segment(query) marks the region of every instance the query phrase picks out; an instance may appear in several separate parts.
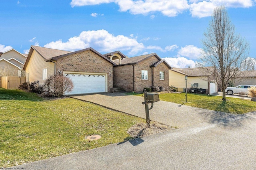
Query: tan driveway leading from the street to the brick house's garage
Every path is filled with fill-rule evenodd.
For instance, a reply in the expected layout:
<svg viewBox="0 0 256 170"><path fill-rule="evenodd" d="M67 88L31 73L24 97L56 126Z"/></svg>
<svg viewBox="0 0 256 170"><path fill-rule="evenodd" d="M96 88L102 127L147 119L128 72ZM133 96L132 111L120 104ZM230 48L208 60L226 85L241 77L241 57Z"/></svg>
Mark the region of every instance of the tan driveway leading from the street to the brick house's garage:
<svg viewBox="0 0 256 170"><path fill-rule="evenodd" d="M140 96L129 96L124 93L102 93L72 96L72 98L92 102L130 115L146 118L145 106L142 104L144 98ZM151 104L149 104L149 107ZM159 101L149 111L150 120L171 125L174 127L190 127L198 123L214 123L228 113L200 109L171 102Z"/></svg>

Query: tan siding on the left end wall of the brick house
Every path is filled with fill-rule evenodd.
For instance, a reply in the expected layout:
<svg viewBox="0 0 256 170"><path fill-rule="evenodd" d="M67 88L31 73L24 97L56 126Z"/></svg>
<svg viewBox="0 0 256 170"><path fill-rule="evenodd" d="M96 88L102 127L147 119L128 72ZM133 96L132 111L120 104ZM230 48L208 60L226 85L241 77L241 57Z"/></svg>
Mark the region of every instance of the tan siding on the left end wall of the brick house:
<svg viewBox="0 0 256 170"><path fill-rule="evenodd" d="M54 75L54 63L45 62L44 59L34 50L28 65L26 66L26 73L29 73L29 81L39 81L39 85L43 85L43 69L47 68L47 77Z"/></svg>

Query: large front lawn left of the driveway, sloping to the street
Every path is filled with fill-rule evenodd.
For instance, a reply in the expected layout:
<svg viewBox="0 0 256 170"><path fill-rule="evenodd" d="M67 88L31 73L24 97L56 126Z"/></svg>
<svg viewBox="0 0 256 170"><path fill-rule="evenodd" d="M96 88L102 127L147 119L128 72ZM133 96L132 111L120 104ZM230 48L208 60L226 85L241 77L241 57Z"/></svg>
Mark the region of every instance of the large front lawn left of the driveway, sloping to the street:
<svg viewBox="0 0 256 170"><path fill-rule="evenodd" d="M0 168L131 139L144 119L72 98L44 100L0 88ZM98 141L85 139L101 135Z"/></svg>

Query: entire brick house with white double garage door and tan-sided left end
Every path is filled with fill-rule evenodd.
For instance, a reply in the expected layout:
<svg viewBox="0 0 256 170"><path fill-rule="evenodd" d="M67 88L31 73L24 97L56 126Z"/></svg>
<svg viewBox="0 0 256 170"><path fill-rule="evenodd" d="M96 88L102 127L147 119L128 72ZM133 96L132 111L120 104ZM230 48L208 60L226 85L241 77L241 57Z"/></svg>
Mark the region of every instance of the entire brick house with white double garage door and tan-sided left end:
<svg viewBox="0 0 256 170"><path fill-rule="evenodd" d="M102 55L92 48L70 52L31 46L23 70L27 82L39 81L62 72L72 79L70 94L110 92L120 87L142 92L145 87L169 85L169 68L156 54L128 58L120 51Z"/></svg>

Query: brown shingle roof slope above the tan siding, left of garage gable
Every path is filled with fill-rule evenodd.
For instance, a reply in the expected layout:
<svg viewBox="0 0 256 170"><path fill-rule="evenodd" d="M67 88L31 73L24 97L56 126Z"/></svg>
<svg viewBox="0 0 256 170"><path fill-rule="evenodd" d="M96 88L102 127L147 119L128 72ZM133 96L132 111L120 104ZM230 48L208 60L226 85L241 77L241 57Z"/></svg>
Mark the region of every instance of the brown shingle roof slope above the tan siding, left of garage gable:
<svg viewBox="0 0 256 170"><path fill-rule="evenodd" d="M59 55L71 53L70 51L49 49L49 48L38 47L38 46L34 46L34 45L32 45L31 47L34 50L36 50L45 60L50 59L52 57L59 56Z"/></svg>

